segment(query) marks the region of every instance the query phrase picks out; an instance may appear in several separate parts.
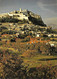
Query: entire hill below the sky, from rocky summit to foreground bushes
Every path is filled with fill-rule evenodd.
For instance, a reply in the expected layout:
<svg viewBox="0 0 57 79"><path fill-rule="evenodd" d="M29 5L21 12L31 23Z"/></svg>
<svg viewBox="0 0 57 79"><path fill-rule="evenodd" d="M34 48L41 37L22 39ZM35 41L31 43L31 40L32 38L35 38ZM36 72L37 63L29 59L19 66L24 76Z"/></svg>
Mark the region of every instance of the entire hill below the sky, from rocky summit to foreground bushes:
<svg viewBox="0 0 57 79"><path fill-rule="evenodd" d="M57 31L28 10L0 15L0 79L56 79Z"/></svg>

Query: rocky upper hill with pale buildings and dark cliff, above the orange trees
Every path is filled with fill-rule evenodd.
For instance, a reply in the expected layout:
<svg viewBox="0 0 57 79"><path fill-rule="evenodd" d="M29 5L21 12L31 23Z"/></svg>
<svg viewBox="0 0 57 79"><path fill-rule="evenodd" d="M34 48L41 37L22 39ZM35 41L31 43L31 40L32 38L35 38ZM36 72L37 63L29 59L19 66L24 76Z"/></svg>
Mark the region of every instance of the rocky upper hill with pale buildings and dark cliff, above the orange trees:
<svg viewBox="0 0 57 79"><path fill-rule="evenodd" d="M1 16L2 15L2 16ZM52 33L52 28L47 27L41 16L28 10L13 11L0 15L0 32L7 34L10 32L16 34L17 37L41 36L41 34ZM4 29L4 28L6 29Z"/></svg>

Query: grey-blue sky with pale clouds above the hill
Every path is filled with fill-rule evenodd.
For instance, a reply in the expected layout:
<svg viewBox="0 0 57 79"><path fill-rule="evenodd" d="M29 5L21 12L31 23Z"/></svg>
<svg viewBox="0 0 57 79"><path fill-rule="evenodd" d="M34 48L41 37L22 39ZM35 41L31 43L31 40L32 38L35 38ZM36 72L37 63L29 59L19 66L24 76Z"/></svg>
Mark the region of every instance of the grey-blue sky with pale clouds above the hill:
<svg viewBox="0 0 57 79"><path fill-rule="evenodd" d="M39 14L46 24L57 25L57 0L0 0L0 13L19 8Z"/></svg>

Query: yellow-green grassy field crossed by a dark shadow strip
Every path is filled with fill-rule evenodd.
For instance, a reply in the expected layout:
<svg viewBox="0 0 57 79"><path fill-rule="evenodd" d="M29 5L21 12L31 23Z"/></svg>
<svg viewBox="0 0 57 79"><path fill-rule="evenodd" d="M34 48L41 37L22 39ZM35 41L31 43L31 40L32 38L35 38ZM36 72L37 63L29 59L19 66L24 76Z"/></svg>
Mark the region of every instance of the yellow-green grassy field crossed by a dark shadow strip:
<svg viewBox="0 0 57 79"><path fill-rule="evenodd" d="M32 58L23 58L23 65L31 67L38 67L41 65L57 65L57 56L45 56L45 55L37 55Z"/></svg>

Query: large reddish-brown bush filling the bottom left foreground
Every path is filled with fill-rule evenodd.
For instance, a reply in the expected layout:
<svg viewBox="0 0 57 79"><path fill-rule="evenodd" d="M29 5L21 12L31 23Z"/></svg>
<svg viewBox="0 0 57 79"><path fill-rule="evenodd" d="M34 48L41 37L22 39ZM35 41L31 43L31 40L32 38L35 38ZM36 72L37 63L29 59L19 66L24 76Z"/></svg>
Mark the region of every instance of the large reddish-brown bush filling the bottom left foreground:
<svg viewBox="0 0 57 79"><path fill-rule="evenodd" d="M1 50L1 49L0 49ZM22 59L16 52L10 52L9 50L1 51L1 66L0 66L0 78L1 79L24 79L26 70L22 69Z"/></svg>

